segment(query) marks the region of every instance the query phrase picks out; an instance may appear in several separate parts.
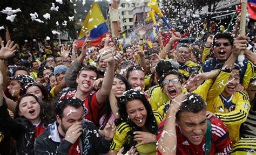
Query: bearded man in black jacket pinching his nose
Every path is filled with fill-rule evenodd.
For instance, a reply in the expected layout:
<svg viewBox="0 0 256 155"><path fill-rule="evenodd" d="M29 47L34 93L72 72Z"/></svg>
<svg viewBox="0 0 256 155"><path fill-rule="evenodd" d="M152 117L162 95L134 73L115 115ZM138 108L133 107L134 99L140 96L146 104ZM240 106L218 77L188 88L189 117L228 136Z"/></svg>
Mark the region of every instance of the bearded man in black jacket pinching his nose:
<svg viewBox="0 0 256 155"><path fill-rule="evenodd" d="M109 151L116 128L114 123L107 123L105 137L100 137L95 124L84 119L88 110L83 107L83 101L66 94L56 105L57 122L36 139L35 154L96 154Z"/></svg>

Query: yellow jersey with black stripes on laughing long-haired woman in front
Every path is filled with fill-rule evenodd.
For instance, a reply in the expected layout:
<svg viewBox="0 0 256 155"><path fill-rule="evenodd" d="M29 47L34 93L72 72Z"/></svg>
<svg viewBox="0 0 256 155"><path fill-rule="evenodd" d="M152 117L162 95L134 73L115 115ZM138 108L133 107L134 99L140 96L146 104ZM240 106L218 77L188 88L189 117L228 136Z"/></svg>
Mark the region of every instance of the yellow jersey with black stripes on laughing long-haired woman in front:
<svg viewBox="0 0 256 155"><path fill-rule="evenodd" d="M154 117L156 118L157 124L163 121L163 117L158 111L153 112ZM131 134L133 133L132 127L123 122L117 126L116 132L114 133L113 141L110 145L110 150L119 151L119 149L129 140ZM144 144L137 147L137 152L139 154L156 154L156 144Z"/></svg>

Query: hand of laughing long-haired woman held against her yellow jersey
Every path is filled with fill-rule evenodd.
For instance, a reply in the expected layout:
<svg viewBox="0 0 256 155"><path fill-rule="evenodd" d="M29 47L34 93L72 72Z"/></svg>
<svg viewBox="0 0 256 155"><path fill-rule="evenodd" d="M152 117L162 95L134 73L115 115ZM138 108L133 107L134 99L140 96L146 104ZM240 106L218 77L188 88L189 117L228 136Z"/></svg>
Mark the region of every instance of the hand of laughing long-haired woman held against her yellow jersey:
<svg viewBox="0 0 256 155"><path fill-rule="evenodd" d="M150 133L150 132L143 132L143 131L135 131L133 132L135 135L133 139L135 141L140 141L135 147L138 147L143 144L150 144L157 142L157 136Z"/></svg>

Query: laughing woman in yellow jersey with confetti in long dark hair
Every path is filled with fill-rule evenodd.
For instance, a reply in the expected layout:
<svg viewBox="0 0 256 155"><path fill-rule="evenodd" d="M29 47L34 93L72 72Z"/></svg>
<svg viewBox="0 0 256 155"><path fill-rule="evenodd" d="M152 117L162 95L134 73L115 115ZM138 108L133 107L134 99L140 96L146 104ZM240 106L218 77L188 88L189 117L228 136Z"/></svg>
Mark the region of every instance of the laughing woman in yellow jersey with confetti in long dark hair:
<svg viewBox="0 0 256 155"><path fill-rule="evenodd" d="M156 154L157 126L163 117L152 111L147 96L128 90L119 98L118 107L123 122L117 126L109 154L126 153L132 146L139 154Z"/></svg>

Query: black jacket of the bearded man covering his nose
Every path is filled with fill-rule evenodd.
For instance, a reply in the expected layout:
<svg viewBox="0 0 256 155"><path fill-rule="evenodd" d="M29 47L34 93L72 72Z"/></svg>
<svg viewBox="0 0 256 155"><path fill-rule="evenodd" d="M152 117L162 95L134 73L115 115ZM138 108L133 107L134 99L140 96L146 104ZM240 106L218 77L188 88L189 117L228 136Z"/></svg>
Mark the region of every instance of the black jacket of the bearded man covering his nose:
<svg viewBox="0 0 256 155"><path fill-rule="evenodd" d="M100 137L95 124L85 121L83 133L79 137L81 154L106 153L110 148L110 140ZM60 140L57 123L51 124L35 142L35 154L68 154L72 143Z"/></svg>

